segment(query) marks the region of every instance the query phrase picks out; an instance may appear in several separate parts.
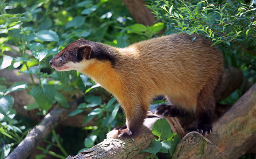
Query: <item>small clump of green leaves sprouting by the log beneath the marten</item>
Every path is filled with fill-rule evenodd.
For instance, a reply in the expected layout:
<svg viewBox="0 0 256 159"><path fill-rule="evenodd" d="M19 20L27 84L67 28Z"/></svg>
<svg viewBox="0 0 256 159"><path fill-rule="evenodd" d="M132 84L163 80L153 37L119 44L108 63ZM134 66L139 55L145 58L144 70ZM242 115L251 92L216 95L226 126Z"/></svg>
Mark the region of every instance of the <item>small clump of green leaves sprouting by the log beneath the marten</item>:
<svg viewBox="0 0 256 159"><path fill-rule="evenodd" d="M156 156L158 152L169 152L169 154L172 155L180 141L180 137L177 135L177 133L172 133L170 124L165 118L159 119L154 123L152 126L152 133L158 137L158 140L153 138L150 147L141 151L152 153L146 158L149 159L151 156L153 156L155 159L158 159Z"/></svg>

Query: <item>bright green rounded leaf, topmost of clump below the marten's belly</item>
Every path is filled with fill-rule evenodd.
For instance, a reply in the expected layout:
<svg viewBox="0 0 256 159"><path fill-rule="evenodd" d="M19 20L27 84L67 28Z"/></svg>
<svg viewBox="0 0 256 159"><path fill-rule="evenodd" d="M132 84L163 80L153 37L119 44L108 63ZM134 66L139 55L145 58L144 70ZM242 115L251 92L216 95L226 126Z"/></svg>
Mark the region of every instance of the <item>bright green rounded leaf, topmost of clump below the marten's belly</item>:
<svg viewBox="0 0 256 159"><path fill-rule="evenodd" d="M170 124L164 118L159 119L154 123L152 127L152 133L155 136L158 136L159 140L166 140L167 138L172 136L172 129L170 127Z"/></svg>

